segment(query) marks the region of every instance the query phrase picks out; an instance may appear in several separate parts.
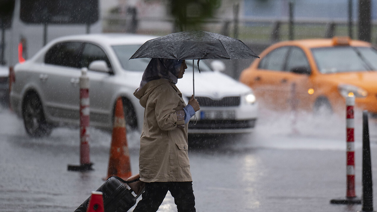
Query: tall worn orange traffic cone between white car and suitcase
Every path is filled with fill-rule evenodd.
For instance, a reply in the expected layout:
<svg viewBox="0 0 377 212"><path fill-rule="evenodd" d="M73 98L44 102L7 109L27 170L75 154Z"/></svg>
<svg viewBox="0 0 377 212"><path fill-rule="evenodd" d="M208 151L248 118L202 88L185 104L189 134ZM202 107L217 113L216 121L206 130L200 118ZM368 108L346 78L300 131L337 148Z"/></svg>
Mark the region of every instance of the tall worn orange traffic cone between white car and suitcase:
<svg viewBox="0 0 377 212"><path fill-rule="evenodd" d="M127 179L132 175L130 153L126 138L126 120L124 120L123 103L121 98L116 100L115 105L115 116L107 178L113 175L123 179Z"/></svg>

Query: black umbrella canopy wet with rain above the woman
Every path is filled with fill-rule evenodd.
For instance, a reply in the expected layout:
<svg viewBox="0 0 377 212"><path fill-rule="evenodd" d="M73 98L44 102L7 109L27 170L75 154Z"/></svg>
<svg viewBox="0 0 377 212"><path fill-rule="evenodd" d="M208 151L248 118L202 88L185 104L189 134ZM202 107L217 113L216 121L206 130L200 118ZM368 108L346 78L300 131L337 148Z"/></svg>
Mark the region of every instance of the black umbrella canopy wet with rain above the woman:
<svg viewBox="0 0 377 212"><path fill-rule="evenodd" d="M259 58L241 40L213 32L190 30L146 41L130 59L176 60Z"/></svg>

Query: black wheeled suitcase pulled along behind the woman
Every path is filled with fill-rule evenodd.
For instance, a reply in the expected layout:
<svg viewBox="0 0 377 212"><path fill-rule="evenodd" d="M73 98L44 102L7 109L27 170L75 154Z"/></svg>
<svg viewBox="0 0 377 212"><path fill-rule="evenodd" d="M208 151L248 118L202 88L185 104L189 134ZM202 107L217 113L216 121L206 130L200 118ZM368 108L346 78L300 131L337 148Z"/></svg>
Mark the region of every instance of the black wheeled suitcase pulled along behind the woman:
<svg viewBox="0 0 377 212"><path fill-rule="evenodd" d="M136 175L134 175L136 176ZM120 177L109 177L101 187L97 189L103 193L103 206L105 212L126 212L132 206L135 205L136 199L143 193L143 182L139 178L132 179L134 176L123 180ZM129 180L132 179L132 180ZM131 187L128 189L126 184ZM136 186L135 186L136 184ZM136 197L132 194L132 191L136 194ZM86 212L89 198L87 198L83 204L78 207L75 212Z"/></svg>

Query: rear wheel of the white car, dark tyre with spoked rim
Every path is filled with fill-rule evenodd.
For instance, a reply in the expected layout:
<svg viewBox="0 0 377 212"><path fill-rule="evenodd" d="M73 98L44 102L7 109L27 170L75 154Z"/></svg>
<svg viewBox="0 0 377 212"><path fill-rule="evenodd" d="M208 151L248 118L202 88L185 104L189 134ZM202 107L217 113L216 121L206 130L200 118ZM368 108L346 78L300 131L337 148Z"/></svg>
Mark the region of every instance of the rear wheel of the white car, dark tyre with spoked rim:
<svg viewBox="0 0 377 212"><path fill-rule="evenodd" d="M22 117L26 132L31 137L44 137L51 134L52 127L46 122L41 101L34 92L27 94L24 99Z"/></svg>

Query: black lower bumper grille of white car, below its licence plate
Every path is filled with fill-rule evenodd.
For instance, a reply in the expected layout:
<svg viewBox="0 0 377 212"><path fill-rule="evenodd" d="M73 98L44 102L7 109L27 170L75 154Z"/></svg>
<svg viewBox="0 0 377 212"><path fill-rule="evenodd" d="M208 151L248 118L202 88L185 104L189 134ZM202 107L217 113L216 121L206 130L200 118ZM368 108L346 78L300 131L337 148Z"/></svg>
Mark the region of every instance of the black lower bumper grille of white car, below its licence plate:
<svg viewBox="0 0 377 212"><path fill-rule="evenodd" d="M194 125L189 122L190 129L242 129L254 128L256 119L251 120L198 120Z"/></svg>

